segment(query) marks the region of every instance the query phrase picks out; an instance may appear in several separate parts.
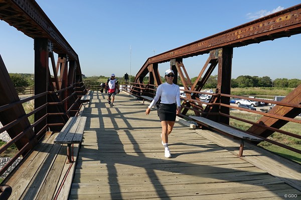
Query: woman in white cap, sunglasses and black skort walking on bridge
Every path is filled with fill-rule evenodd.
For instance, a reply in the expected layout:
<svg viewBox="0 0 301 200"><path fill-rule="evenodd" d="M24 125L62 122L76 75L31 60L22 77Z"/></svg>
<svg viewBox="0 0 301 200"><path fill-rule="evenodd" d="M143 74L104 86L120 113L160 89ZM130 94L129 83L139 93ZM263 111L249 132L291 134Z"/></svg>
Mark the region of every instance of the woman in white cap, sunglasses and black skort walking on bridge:
<svg viewBox="0 0 301 200"><path fill-rule="evenodd" d="M168 135L172 132L176 115L181 111L180 87L173 83L175 73L168 69L165 71L166 82L158 86L154 100L147 107L145 113L149 114L150 108L157 103L161 96L161 103L158 109L158 115L162 126L162 144L165 147L165 157L172 157L168 147Z"/></svg>

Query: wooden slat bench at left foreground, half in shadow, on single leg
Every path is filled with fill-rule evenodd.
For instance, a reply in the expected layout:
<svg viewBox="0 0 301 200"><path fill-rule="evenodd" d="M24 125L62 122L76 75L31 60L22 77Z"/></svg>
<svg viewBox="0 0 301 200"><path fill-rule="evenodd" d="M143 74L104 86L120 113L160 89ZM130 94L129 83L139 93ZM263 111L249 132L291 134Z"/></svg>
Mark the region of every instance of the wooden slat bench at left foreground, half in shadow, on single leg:
<svg viewBox="0 0 301 200"><path fill-rule="evenodd" d="M71 160L71 144L81 143L86 124L86 116L72 116L69 118L63 129L60 131L56 139L55 144L67 144L67 163Z"/></svg>

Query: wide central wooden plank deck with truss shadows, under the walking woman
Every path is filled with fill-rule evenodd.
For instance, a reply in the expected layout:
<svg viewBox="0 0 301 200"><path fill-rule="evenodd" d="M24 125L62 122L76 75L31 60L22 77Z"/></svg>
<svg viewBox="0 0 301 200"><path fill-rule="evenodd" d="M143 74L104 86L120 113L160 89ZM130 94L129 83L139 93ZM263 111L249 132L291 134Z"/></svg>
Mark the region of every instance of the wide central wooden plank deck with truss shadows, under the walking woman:
<svg viewBox="0 0 301 200"><path fill-rule="evenodd" d="M176 122L164 157L157 111L120 92L94 92L70 199L285 199L301 192ZM237 145L233 148L238 148ZM247 149L246 149L247 152ZM296 198L294 198L296 199Z"/></svg>

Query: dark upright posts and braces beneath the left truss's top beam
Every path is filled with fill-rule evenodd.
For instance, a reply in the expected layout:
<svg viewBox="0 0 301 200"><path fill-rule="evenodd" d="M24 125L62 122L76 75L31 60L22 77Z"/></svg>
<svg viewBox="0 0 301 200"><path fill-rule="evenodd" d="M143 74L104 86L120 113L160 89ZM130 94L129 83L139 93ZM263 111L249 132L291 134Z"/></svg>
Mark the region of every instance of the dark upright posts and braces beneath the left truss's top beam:
<svg viewBox="0 0 301 200"><path fill-rule="evenodd" d="M68 71L68 56L59 54L57 65L55 66L51 41L47 38L35 39L35 95L45 91L52 91L46 96L35 99L35 108L49 104L35 114L35 121L48 115L38 127L35 128L36 134L47 124L57 124L50 127L51 130L60 130L70 116L74 116L80 107L74 85L76 78L76 62L71 60ZM51 64L49 64L49 59ZM50 68L53 75L50 73ZM70 87L70 85L74 85ZM60 91L62 90L62 91ZM54 104L53 104L54 103ZM75 103L75 104L74 104ZM74 104L74 105L73 105ZM53 114L55 115L53 115ZM61 113L58 115L58 113ZM46 130L45 130L46 132Z"/></svg>

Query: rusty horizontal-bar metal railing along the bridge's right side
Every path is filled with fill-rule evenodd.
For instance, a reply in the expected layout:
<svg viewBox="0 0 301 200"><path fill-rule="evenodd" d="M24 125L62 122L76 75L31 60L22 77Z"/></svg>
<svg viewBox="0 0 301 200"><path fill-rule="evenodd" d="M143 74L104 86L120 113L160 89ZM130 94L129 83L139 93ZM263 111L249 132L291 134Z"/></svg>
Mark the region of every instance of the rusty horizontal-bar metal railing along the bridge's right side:
<svg viewBox="0 0 301 200"><path fill-rule="evenodd" d="M138 85L138 86L137 86ZM152 84L136 84L134 82L124 82L122 83L122 90L126 91L138 98L141 98L141 95L146 95L146 96L150 96L150 97L154 97L155 93L156 93L156 88L157 85L152 85ZM225 103L220 103L220 102L214 102L212 99L217 98L218 95L223 96L223 97L229 97L229 98L240 98L240 99L249 99L249 100L255 100L255 101L260 101L260 102L264 102L265 104L271 104L272 106L284 106L284 107L289 107L289 108L301 108L300 104L293 104L293 103L287 103L287 102L281 102L281 101L275 101L275 100L268 100L268 99L259 99L259 98L249 98L249 97L245 97L245 96L238 96L238 95L230 95L230 94L218 94L218 93L208 93L208 92L202 92L202 91L194 91L194 90L185 90L185 89L181 89L181 91L186 92L186 93L196 93L196 94L210 94L212 95L211 100L209 101L202 101L202 100L197 100L197 99L193 99L193 98L188 98L188 97L182 97L181 101L189 101L190 104L192 104L191 107L187 107L185 105L183 105L184 103L182 103L181 108L183 110L183 108L187 108L189 110L192 110L193 112L189 112L188 114L183 114L180 113L178 114L180 117L185 118L187 120L191 120L194 121L194 119L192 119L191 117L189 117L189 115L195 115L195 112L199 113L199 115L201 116L208 116L208 115L217 115L217 116L223 116L223 117L227 117L229 119L231 119L232 121L240 121L243 122L245 125L244 127L251 127L251 126L255 126L258 128L264 128L273 132L277 132L280 135L285 135L285 136L289 136L293 139L296 139L299 141L298 144L301 144L301 134L297 134L295 132L292 131L287 131L287 130L283 130L283 128L281 127L272 127L272 126L267 126L265 125L262 121L252 121L249 119L245 119L243 117L239 117L239 116L235 116L233 114L233 110L239 110L239 111L243 111L244 113L253 113L253 114L258 114L259 118L261 118L262 116L266 116L266 117L270 117L272 119L275 120L282 120L283 123L290 123L290 124L294 124L295 126L299 127L299 128L294 128L295 131L299 131L301 129L301 116L296 116L294 118L291 117L286 117L286 116L281 116L279 114L275 114L275 113L270 113L269 109L266 110L264 109L263 111L259 111L259 110L251 110L251 109L246 109L243 107L239 107L237 105L231 105L230 101L229 104L225 104ZM218 112L208 112L206 111L206 107L208 106L218 106L220 107ZM230 110L230 114L225 114L223 112L221 112L221 107L226 107ZM256 117L257 118L257 117ZM197 121L196 121L197 122ZM232 125L234 124L234 125ZM201 124L199 124L201 126ZM230 127L233 127L235 129L239 129L241 131L244 131L248 134L251 135L255 135L252 132L248 131L248 129L242 129L238 126L235 126L235 122L234 123L229 123L229 124L225 124L228 125ZM300 132L299 132L300 133ZM260 135L255 135L257 137L262 138L264 141L275 144L277 146L289 149L293 152L299 153L301 154L301 149L298 148L294 148L291 147L289 145L287 145L285 143L285 141L279 142L279 141L275 141L272 137L264 137L264 136L260 136Z"/></svg>

